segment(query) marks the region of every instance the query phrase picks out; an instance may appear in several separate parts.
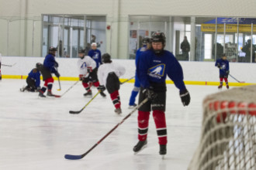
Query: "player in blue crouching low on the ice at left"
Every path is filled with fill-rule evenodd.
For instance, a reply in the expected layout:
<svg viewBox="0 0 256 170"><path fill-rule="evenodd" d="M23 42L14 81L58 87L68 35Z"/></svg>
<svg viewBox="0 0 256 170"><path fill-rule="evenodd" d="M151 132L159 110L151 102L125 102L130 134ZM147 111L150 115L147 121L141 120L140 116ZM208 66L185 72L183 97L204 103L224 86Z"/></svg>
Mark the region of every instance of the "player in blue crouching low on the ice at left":
<svg viewBox="0 0 256 170"><path fill-rule="evenodd" d="M40 71L37 69L41 63L36 63L36 68L30 71L29 76L26 78L27 86L20 89L21 92L39 92L40 91Z"/></svg>

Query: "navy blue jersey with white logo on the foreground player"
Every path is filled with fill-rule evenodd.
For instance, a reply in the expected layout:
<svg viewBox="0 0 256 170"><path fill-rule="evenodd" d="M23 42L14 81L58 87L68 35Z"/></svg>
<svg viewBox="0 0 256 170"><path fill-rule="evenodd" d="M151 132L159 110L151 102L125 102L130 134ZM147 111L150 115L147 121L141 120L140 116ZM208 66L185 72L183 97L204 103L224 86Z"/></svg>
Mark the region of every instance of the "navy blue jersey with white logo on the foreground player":
<svg viewBox="0 0 256 170"><path fill-rule="evenodd" d="M172 53L164 50L161 56L156 56L153 49L148 49L141 54L137 63L137 76L142 87L150 87L150 82L164 83L166 75L179 90L185 90L182 66Z"/></svg>

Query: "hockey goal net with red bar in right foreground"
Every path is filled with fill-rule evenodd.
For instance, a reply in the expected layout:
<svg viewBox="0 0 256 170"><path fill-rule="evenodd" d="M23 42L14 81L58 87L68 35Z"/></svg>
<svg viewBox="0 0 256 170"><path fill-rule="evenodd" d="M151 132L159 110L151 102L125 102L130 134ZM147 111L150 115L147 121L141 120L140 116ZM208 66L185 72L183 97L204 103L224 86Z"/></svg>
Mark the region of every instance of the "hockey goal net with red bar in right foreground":
<svg viewBox="0 0 256 170"><path fill-rule="evenodd" d="M256 170L256 86L209 95L189 170Z"/></svg>

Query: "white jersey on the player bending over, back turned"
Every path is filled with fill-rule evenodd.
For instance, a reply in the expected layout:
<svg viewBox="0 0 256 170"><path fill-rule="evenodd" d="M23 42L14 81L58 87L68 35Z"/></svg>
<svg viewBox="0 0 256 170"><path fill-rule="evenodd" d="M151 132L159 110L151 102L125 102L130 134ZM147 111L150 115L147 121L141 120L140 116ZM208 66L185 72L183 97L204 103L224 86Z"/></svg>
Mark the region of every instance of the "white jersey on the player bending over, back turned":
<svg viewBox="0 0 256 170"><path fill-rule="evenodd" d="M98 79L99 84L106 87L106 79L110 72L115 72L116 76L123 76L126 73L126 69L117 63L104 63L99 66Z"/></svg>

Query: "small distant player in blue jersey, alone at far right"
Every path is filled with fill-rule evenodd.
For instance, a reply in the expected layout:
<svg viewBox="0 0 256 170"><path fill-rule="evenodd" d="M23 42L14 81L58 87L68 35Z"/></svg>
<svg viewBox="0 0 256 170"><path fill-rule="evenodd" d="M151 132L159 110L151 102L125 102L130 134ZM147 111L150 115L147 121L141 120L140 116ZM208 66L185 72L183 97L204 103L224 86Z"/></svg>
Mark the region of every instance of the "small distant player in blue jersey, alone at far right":
<svg viewBox="0 0 256 170"><path fill-rule="evenodd" d="M229 89L230 87L228 85L227 78L230 73L230 63L228 62L227 55L225 53L221 55L221 59L216 60L215 66L220 69L220 86L218 87L218 89L222 88L223 79L225 80L227 89Z"/></svg>

